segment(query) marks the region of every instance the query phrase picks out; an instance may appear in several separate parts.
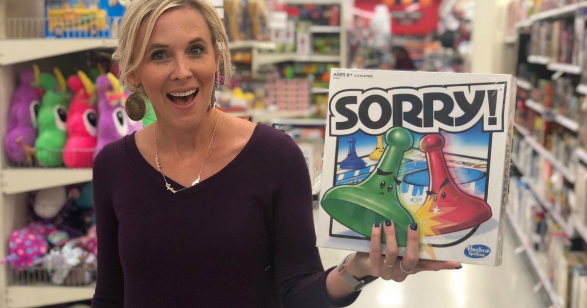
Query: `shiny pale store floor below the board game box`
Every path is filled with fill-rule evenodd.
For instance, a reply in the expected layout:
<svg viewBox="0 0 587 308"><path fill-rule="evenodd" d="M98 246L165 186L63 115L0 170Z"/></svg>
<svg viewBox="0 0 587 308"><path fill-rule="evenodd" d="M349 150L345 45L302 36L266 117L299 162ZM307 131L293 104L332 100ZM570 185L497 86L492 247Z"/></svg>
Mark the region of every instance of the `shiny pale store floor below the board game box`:
<svg viewBox="0 0 587 308"><path fill-rule="evenodd" d="M315 218L316 218L315 211ZM519 244L504 222L504 255L501 266L463 265L463 269L424 272L402 283L376 280L363 290L354 308L542 308L544 292L534 292L534 273L514 251ZM347 251L320 248L325 268L338 265Z"/></svg>

